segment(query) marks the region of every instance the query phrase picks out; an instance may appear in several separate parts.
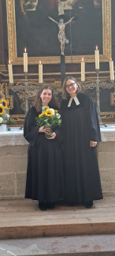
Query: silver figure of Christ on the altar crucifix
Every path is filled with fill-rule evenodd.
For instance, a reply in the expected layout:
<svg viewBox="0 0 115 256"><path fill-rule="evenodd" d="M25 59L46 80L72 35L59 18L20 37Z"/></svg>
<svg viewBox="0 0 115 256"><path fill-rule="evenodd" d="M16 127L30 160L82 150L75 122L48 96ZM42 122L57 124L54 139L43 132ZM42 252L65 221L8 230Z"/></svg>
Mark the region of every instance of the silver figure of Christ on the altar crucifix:
<svg viewBox="0 0 115 256"><path fill-rule="evenodd" d="M65 50L65 43L69 43L69 40L66 39L65 36L65 25L69 24L74 17L72 17L70 20L68 20L67 22L64 23L63 19L60 19L59 22L54 20L52 17L48 17L50 20L54 21L54 23L58 24L58 28L59 28L59 32L58 32L58 40L61 43L61 55L65 55L64 54L64 50Z"/></svg>

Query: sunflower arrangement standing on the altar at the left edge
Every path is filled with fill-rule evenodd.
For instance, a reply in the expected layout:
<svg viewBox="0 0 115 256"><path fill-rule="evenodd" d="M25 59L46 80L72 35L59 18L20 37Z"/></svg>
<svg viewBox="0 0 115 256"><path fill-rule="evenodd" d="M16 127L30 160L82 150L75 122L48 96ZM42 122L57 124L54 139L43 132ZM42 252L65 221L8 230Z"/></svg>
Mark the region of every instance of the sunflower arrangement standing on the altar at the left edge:
<svg viewBox="0 0 115 256"><path fill-rule="evenodd" d="M8 124L9 114L7 113L7 101L5 98L0 99L0 126L2 124Z"/></svg>

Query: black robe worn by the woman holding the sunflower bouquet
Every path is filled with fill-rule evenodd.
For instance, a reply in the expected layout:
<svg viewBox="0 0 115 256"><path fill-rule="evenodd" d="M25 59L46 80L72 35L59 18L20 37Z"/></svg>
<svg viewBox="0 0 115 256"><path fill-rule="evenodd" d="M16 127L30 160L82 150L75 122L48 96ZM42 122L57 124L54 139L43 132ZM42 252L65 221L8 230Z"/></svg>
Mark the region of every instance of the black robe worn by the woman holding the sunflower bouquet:
<svg viewBox="0 0 115 256"><path fill-rule="evenodd" d="M28 110L24 121L24 138L28 140L28 170L25 198L39 202L57 202L64 198L64 176L59 132L55 139L46 139L39 132L35 107Z"/></svg>

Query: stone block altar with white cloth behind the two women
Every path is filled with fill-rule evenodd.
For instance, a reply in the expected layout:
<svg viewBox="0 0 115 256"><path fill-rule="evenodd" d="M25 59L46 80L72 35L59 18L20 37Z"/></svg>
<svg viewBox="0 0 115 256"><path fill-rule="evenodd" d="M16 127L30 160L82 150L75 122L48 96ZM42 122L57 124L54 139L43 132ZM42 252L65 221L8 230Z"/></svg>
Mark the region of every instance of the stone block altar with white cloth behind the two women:
<svg viewBox="0 0 115 256"><path fill-rule="evenodd" d="M0 132L0 199L24 198L28 142L23 128L11 127ZM98 164L104 196L115 195L115 124L101 127L98 143Z"/></svg>

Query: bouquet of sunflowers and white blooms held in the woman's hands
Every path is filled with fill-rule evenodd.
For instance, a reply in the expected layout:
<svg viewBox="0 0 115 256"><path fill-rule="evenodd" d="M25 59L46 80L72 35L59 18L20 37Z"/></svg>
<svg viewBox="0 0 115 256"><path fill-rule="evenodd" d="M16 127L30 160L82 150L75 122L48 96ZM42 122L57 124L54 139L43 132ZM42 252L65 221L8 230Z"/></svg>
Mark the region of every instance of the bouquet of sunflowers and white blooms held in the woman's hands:
<svg viewBox="0 0 115 256"><path fill-rule="evenodd" d="M43 113L39 114L39 117L35 117L37 125L39 127L48 125L50 127L50 132L45 134L46 138L50 137L53 129L61 125L61 115L58 113L57 109L45 108Z"/></svg>

